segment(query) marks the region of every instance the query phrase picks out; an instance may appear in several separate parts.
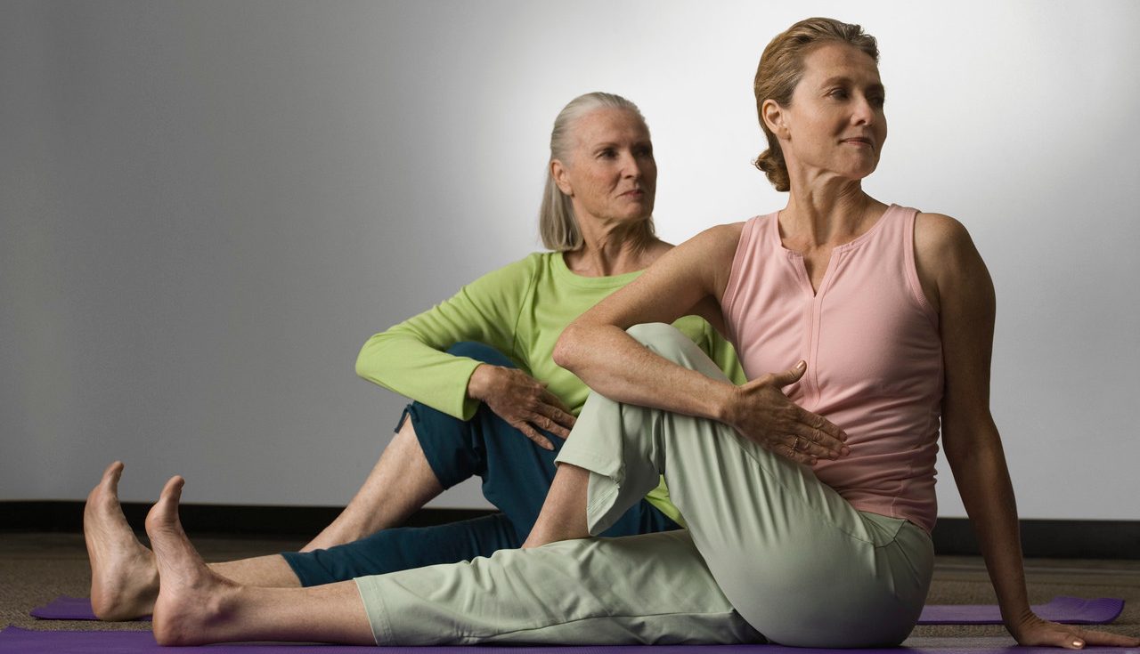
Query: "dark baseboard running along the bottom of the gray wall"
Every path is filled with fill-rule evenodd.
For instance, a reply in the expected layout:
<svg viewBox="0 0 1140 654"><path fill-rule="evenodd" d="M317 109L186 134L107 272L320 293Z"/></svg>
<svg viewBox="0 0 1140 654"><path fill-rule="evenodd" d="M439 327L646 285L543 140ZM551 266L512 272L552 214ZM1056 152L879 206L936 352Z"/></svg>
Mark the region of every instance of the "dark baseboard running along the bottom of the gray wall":
<svg viewBox="0 0 1140 654"><path fill-rule="evenodd" d="M123 504L127 521L138 530L149 506ZM182 525L190 534L280 537L308 539L340 514L341 507L231 506L181 507ZM477 508L425 508L408 518L408 526L430 526L492 513ZM0 533L81 532L81 501L0 501ZM943 555L980 554L966 518L944 517L934 530L935 551ZM1045 558L1140 558L1140 522L1090 520L1023 520L1021 548L1026 556Z"/></svg>

